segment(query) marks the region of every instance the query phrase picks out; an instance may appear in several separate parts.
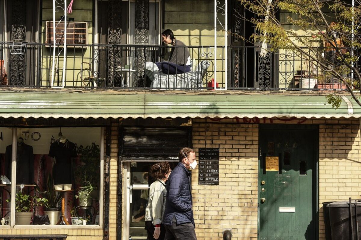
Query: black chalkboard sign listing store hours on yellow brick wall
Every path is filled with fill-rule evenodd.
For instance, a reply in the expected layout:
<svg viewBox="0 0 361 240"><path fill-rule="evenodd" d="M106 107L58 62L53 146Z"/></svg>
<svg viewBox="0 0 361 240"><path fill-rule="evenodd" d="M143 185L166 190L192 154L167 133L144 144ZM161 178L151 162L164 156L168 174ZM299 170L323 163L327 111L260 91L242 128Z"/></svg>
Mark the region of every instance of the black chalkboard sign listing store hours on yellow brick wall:
<svg viewBox="0 0 361 240"><path fill-rule="evenodd" d="M198 184L219 184L219 148L199 148Z"/></svg>

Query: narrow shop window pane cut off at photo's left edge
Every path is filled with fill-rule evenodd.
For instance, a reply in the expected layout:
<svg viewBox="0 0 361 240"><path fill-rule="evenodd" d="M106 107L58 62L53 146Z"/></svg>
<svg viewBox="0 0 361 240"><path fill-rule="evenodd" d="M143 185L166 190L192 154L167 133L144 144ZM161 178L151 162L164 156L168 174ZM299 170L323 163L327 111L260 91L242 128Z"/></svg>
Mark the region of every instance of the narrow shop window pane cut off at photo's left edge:
<svg viewBox="0 0 361 240"><path fill-rule="evenodd" d="M6 151L13 141L12 128L0 128L0 225L10 225L11 154ZM1 227L0 226L0 227Z"/></svg>

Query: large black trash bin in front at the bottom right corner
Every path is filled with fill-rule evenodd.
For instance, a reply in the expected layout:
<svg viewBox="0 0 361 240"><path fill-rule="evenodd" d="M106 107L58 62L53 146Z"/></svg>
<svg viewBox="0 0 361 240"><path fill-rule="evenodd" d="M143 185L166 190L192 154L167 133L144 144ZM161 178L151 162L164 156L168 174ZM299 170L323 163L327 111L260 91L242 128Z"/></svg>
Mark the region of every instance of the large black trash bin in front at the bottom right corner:
<svg viewBox="0 0 361 240"><path fill-rule="evenodd" d="M360 204L360 206L358 206ZM352 219L350 219L349 201L338 201L326 206L329 208L332 240L350 240L356 238L355 201L352 201ZM351 230L352 220L352 230ZM361 202L357 203L358 236L361 237ZM352 235L351 235L352 234Z"/></svg>

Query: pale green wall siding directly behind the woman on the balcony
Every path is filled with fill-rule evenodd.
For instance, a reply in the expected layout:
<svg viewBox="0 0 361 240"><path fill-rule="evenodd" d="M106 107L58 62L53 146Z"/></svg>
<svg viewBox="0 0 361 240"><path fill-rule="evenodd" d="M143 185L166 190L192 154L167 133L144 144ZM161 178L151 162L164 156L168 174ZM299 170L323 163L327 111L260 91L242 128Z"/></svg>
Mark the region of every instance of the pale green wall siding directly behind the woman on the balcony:
<svg viewBox="0 0 361 240"><path fill-rule="evenodd" d="M224 4L224 0L219 5ZM218 14L218 19L224 26L225 16ZM177 39L191 46L214 46L214 0L167 0L164 7L164 28L171 29ZM224 32L218 23L217 25L217 45L224 45ZM206 49L203 49L206 51ZM211 49L212 51L214 49ZM193 49L191 58L203 59L202 49ZM225 53L221 49L217 50L217 58L225 59ZM214 55L212 61L214 59ZM197 63L199 61L196 61ZM224 62L217 61L217 82L219 87L223 87L225 82ZM213 78L212 66L208 68L209 78Z"/></svg>

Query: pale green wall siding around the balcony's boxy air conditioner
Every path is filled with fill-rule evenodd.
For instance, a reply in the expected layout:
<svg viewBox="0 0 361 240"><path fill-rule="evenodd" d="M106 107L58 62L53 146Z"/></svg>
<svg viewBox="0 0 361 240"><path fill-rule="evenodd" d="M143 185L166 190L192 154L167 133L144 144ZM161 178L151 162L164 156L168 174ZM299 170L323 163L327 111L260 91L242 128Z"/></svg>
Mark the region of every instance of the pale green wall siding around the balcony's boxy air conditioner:
<svg viewBox="0 0 361 240"><path fill-rule="evenodd" d="M63 13L56 13L56 19L60 19ZM93 1L92 0L76 0L73 2L73 12L67 14L69 18L74 18L75 22L87 22L88 23L88 34L87 44L92 44L93 34ZM52 21L53 18L53 1L43 0L42 8L42 43L45 43L45 22ZM51 68L51 48L43 48L42 50L42 85L49 85L50 83L50 71ZM62 55L62 54L61 54ZM73 86L80 86L80 67L82 62L91 62L91 48L68 48L67 51L67 63L66 63L66 79L75 80L73 85L67 82L66 85L70 84ZM59 59L60 66L62 66L63 59ZM60 73L61 74L61 73Z"/></svg>

